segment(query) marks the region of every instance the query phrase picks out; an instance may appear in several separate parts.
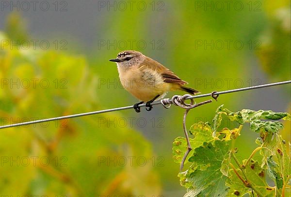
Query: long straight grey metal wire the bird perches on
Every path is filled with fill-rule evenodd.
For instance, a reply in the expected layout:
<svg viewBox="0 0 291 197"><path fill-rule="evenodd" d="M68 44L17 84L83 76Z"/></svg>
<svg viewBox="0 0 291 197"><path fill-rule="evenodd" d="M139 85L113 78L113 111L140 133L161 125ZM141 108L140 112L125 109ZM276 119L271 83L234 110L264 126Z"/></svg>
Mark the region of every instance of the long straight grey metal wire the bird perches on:
<svg viewBox="0 0 291 197"><path fill-rule="evenodd" d="M287 84L287 83L291 83L291 80L290 81L284 81L284 82L275 82L275 83L268 83L268 84L263 84L263 85L256 85L256 86L250 86L250 87L226 90L226 91L221 91L221 92L215 92L212 95L222 95L222 94L228 94L228 93L232 93L232 92L240 92L240 91L258 89L258 88L264 88L264 87L270 87L270 86L275 86L275 85L283 85L283 84ZM192 96L192 97L187 97L186 99L196 99L196 98L209 97L209 96L211 96L211 93L203 94L203 95L196 95L196 96ZM161 104L161 101L155 101L155 102L152 103L152 105L159 105L159 104ZM139 106L140 107L145 107L146 104L140 104ZM30 124L36 124L36 123L41 123L41 122L62 120L62 119L80 117L80 116L85 116L85 115L102 114L102 113L106 113L106 112L114 112L114 111L127 110L127 109L132 109L132 108L133 108L133 105L126 106L126 107L118 107L118 108L113 108L113 109L107 109L107 110L100 110L100 111L95 111L95 112L87 112L87 113L81 113L81 114L52 117L52 118L41 119L41 120L33 120L33 121L29 121L29 122L20 122L20 123L11 124L11 125L0 126L0 129L23 126L23 125L30 125Z"/></svg>

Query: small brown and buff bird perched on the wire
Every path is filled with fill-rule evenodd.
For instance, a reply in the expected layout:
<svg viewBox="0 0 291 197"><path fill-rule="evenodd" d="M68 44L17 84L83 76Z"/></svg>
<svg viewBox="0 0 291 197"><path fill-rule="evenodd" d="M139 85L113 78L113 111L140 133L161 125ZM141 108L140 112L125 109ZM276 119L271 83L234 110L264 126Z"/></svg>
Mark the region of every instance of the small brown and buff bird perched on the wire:
<svg viewBox="0 0 291 197"><path fill-rule="evenodd" d="M159 62L147 57L139 51L125 50L118 53L117 58L109 60L116 62L119 79L122 86L140 102L134 104L136 112L139 105L146 102L146 110L152 109L151 103L162 99L168 91L182 90L192 95L199 93L178 78L171 70Z"/></svg>

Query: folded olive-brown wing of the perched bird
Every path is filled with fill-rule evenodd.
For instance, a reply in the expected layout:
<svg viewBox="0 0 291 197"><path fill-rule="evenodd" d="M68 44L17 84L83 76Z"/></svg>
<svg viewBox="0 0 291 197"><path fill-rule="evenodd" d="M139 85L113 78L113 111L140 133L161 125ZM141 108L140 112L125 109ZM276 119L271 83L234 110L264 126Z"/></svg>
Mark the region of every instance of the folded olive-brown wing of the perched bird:
<svg viewBox="0 0 291 197"><path fill-rule="evenodd" d="M175 75L174 72L172 72L165 66L162 66L159 62L149 57L145 58L145 61L139 66L139 69L140 70L151 69L151 70L158 71L159 73L162 74L162 78L164 82L178 83L181 85L188 84L188 82L181 80L177 75Z"/></svg>

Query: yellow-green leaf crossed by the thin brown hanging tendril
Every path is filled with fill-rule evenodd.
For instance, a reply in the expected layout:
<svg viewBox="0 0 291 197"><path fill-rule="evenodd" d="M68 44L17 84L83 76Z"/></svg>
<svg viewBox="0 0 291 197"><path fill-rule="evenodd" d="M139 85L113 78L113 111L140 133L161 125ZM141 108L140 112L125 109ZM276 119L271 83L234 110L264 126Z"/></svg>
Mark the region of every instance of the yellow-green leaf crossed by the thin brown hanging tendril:
<svg viewBox="0 0 291 197"><path fill-rule="evenodd" d="M212 129L211 127L203 122L199 122L197 124L192 125L189 131L194 138L189 138L191 147L197 148L203 145L204 142L211 142L214 140L212 137ZM185 137L177 137L173 142L173 159L176 163L181 163L182 158L187 149L187 141ZM191 154L188 155L188 158ZM185 160L185 164L188 163L188 159Z"/></svg>

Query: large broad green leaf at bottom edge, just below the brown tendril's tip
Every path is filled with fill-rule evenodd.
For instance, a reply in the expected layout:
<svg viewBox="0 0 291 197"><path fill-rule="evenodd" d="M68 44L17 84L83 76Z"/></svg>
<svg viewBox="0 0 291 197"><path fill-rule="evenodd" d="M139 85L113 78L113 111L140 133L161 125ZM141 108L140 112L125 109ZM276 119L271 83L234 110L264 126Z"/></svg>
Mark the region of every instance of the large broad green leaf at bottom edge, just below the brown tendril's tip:
<svg viewBox="0 0 291 197"><path fill-rule="evenodd" d="M215 140L214 146L205 142L203 146L195 148L194 155L189 159L195 167L185 173L186 181L192 183L185 197L226 195L227 177L222 174L221 167L227 152L226 141L220 140Z"/></svg>

